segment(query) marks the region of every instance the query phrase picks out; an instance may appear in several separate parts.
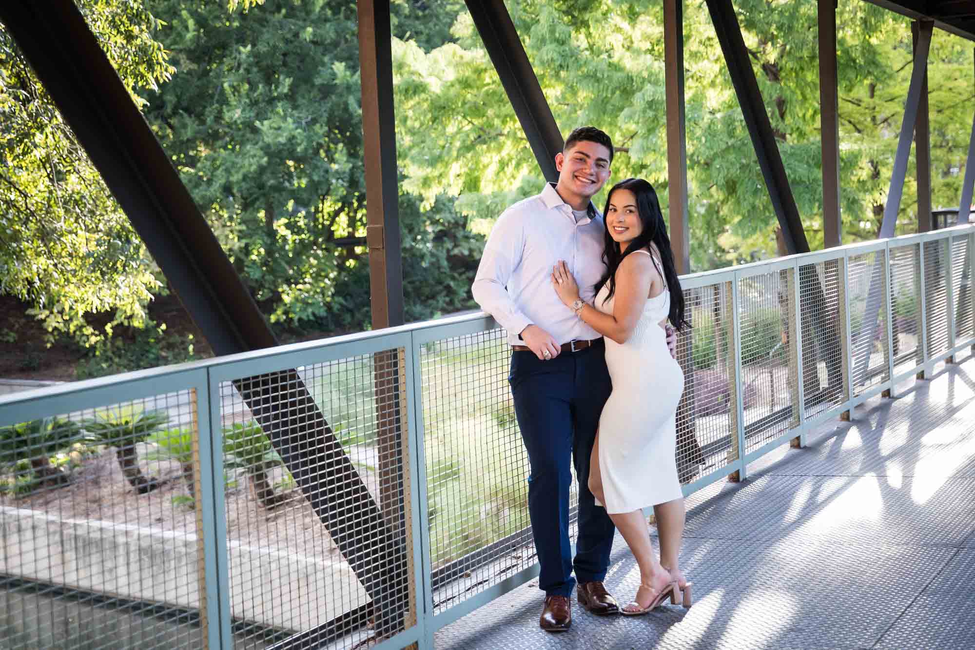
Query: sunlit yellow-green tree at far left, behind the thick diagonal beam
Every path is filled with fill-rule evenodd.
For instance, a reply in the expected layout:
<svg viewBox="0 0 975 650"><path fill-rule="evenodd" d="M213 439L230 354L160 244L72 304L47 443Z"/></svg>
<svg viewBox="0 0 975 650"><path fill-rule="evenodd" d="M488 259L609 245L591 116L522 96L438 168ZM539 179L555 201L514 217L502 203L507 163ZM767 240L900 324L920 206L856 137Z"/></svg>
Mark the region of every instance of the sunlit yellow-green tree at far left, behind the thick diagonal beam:
<svg viewBox="0 0 975 650"><path fill-rule="evenodd" d="M133 100L173 68L156 20L136 0L79 0ZM0 293L31 305L49 331L91 345L85 315L140 325L161 289L154 264L98 171L0 25Z"/></svg>

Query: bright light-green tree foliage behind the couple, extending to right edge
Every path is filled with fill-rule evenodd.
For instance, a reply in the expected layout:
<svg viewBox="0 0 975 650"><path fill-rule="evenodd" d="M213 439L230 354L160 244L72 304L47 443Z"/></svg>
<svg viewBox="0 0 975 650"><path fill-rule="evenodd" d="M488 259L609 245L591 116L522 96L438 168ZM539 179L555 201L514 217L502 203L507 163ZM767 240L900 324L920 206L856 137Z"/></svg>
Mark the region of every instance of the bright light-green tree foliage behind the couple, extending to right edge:
<svg viewBox="0 0 975 650"><path fill-rule="evenodd" d="M735 2L746 46L813 248L822 246L816 4ZM613 178L643 176L666 201L662 7L659 0L509 3L563 131L595 124L621 148ZM774 212L703 2L686 3L684 66L691 260L695 269L776 254ZM845 240L877 236L911 74L908 20L869 3L838 15ZM537 191L533 156L472 21L455 44L394 49L407 186L458 207L487 230L503 206ZM956 205L970 123L970 44L937 31L929 59L935 203ZM910 180L905 196L913 196ZM599 203L601 198L598 198ZM899 232L916 227L901 205Z"/></svg>

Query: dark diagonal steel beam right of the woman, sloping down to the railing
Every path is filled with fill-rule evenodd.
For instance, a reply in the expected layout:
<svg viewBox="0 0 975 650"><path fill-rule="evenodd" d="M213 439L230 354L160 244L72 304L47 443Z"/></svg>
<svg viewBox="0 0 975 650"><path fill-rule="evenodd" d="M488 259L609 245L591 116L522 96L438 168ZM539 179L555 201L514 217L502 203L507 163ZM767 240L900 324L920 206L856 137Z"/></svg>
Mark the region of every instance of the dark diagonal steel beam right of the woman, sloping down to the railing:
<svg viewBox="0 0 975 650"><path fill-rule="evenodd" d="M765 179L768 195L775 209L775 216L782 227L786 248L790 254L808 253L809 243L805 239L799 208L793 196L789 179L786 177L785 165L779 147L775 143L772 125L765 112L765 104L761 101L759 82L755 78L755 70L748 57L748 50L738 26L731 0L707 0L711 21L715 25L715 33L722 46L724 62L731 75L738 103L745 116L748 133L755 146L755 154L759 159L761 175Z"/></svg>

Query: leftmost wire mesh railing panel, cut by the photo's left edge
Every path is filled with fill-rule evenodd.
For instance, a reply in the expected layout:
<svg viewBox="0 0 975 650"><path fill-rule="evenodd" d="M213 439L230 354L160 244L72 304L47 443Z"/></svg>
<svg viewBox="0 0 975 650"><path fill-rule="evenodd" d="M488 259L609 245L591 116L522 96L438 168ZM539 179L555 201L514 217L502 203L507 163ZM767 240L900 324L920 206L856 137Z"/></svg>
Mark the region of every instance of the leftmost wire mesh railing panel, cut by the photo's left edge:
<svg viewBox="0 0 975 650"><path fill-rule="evenodd" d="M0 646L205 646L196 400L0 427Z"/></svg>

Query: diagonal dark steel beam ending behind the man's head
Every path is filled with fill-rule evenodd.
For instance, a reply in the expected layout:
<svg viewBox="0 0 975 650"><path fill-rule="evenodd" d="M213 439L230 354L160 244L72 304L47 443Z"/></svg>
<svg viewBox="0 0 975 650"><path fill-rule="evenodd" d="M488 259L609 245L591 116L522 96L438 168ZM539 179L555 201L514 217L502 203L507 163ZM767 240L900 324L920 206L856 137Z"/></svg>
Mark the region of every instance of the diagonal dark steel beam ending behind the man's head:
<svg viewBox="0 0 975 650"><path fill-rule="evenodd" d="M565 141L531 69L515 23L502 0L465 1L538 166L546 181L556 183L559 171L555 168L555 156L562 151Z"/></svg>

